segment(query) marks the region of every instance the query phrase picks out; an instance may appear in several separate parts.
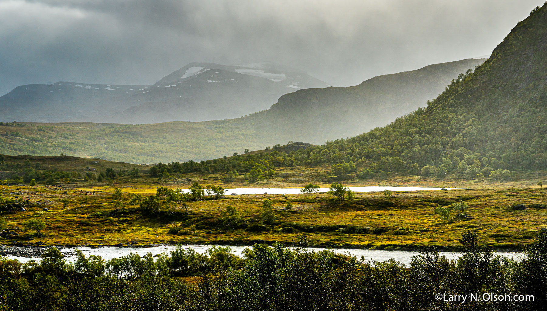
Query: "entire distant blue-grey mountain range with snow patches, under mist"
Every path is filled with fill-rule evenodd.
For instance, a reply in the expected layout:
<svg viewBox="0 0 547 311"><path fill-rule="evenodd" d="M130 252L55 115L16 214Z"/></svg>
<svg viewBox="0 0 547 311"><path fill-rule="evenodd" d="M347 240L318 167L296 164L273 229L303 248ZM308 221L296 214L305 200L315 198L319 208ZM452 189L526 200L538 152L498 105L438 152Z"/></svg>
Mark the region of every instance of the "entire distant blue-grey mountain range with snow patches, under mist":
<svg viewBox="0 0 547 311"><path fill-rule="evenodd" d="M269 108L283 94L328 86L271 62L191 63L151 86L22 85L0 97L0 121L138 124L236 118Z"/></svg>

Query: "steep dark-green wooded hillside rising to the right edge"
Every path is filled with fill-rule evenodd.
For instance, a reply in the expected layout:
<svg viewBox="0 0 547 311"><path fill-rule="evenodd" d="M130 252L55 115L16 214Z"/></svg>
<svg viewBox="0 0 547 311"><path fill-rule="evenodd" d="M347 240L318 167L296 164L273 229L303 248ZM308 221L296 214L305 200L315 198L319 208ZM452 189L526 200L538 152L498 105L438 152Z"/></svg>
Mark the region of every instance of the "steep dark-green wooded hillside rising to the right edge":
<svg viewBox="0 0 547 311"><path fill-rule="evenodd" d="M331 164L340 178L398 172L507 180L515 171L544 170L545 68L547 5L520 22L475 72L461 74L426 108L383 128L289 154L274 151L185 164L183 171Z"/></svg>

